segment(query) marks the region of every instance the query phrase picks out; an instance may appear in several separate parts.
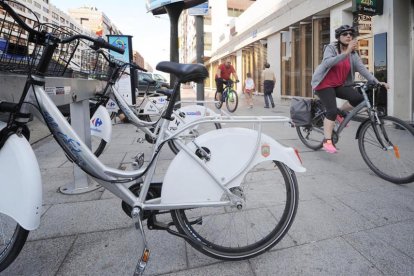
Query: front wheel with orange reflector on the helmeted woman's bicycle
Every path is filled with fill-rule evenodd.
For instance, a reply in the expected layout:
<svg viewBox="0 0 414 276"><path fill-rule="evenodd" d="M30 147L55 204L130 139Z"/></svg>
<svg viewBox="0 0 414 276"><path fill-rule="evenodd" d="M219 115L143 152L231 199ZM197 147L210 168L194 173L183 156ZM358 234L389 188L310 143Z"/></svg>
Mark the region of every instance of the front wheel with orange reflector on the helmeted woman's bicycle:
<svg viewBox="0 0 414 276"><path fill-rule="evenodd" d="M380 122L379 125L366 121L361 126L358 146L362 158L375 174L387 181L413 182L414 129L395 117L380 117Z"/></svg>

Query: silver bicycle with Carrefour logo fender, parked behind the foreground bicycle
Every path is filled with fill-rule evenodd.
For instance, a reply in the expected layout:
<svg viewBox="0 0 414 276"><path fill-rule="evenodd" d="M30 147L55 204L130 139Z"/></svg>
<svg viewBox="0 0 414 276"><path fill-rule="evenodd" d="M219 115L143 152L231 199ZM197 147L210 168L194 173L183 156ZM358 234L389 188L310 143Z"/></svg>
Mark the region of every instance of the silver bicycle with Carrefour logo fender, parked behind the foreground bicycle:
<svg viewBox="0 0 414 276"><path fill-rule="evenodd" d="M125 114L129 123L136 126L139 130L145 133L145 139L147 142L152 144L155 143L158 135L157 133L159 132L160 128L160 118L165 112L165 108L168 105L172 91L158 89L155 93L160 94L161 96L156 96L153 93L152 97L145 97L139 106L131 106L118 92L115 85L118 82L119 78L123 76L124 70L128 67L130 67L132 70L146 70L137 66L136 64L116 61L111 58L109 54L103 51L99 51L99 55L105 58L105 60L108 62L108 67L110 69L110 73L108 75L110 77L104 89L104 92L96 95L94 99L95 104L93 104L91 107L91 136L97 137L99 140L97 143L92 142L92 147L96 148L94 151L95 155L100 156L105 146L111 140L112 124L106 110L108 104L111 103L112 105L116 105L116 107L119 108L123 114ZM150 85L152 85L152 83L148 82L148 87ZM145 96L147 95L147 92L148 91L146 91ZM183 103L183 101L180 103ZM140 108L141 106L143 106L143 108ZM195 104L186 105L180 109L174 110L174 120L171 121L168 129L171 132L175 132L186 124L196 121L199 118L214 115L217 114L205 106ZM156 120L153 120L154 117ZM97 121L99 121L99 124L95 124ZM220 123L214 123L212 126L216 129L221 128ZM204 126L202 129L199 129L199 126L195 125L192 129L181 133L179 138L183 141L191 140L199 136L200 132L205 132L211 129L212 128L208 128L208 126ZM95 146L94 144L97 144L98 146ZM179 149L173 140L168 141L168 145L175 154L178 153Z"/></svg>

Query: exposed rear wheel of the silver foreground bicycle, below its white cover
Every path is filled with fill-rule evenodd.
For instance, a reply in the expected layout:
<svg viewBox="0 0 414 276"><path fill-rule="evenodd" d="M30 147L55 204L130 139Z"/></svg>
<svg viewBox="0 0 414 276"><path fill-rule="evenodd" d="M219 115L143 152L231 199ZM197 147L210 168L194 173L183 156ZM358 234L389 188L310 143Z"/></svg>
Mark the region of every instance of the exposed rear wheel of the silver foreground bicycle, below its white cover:
<svg viewBox="0 0 414 276"><path fill-rule="evenodd" d="M260 181L257 174L261 175ZM260 255L283 238L292 225L298 206L299 191L294 172L278 161L262 162L243 179L249 180L256 182L252 181L246 187L243 183L240 189L236 187L239 191L235 190L243 196L248 193L242 209L208 207L171 211L177 230L188 237L186 240L192 247L216 259L236 261ZM283 192L281 188L284 188ZM252 201L247 202L248 199ZM263 201L258 202L258 199ZM214 229L206 229L209 222ZM218 225L220 223L224 224ZM265 233L263 237L255 239L262 233ZM241 238L246 240L242 242ZM223 244L218 244L221 241Z"/></svg>

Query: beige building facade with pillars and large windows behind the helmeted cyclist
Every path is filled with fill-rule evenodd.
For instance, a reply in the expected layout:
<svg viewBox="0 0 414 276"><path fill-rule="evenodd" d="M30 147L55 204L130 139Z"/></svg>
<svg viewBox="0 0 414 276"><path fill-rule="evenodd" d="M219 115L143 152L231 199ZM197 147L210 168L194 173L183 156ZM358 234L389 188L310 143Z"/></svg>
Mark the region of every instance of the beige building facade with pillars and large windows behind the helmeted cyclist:
<svg viewBox="0 0 414 276"><path fill-rule="evenodd" d="M205 63L210 71L206 87L215 88L217 65L230 57L241 80L247 72L252 73L259 91L267 61L276 73L275 96L312 97L310 79L322 59L323 48L335 40L337 27L348 24L358 28L358 53L363 63L391 86L378 100L388 114L413 120L414 0L369 1L383 2L382 14L374 16L355 13L353 3L358 2L368 3L257 0L230 18L230 1L210 0L214 31L211 55ZM356 79L361 77L357 75Z"/></svg>

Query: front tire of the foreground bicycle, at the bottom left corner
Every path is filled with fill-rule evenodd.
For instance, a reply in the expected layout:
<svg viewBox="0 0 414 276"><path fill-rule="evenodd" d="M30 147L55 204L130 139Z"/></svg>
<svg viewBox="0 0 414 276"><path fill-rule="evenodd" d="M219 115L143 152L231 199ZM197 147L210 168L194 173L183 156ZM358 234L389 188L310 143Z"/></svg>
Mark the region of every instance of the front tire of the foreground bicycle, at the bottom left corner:
<svg viewBox="0 0 414 276"><path fill-rule="evenodd" d="M6 223L12 222L13 225L8 227L5 225L5 221ZM28 230L25 230L12 218L0 214L0 272L5 270L17 258L26 243L28 235Z"/></svg>

